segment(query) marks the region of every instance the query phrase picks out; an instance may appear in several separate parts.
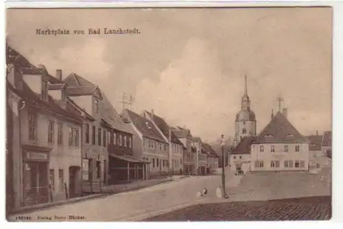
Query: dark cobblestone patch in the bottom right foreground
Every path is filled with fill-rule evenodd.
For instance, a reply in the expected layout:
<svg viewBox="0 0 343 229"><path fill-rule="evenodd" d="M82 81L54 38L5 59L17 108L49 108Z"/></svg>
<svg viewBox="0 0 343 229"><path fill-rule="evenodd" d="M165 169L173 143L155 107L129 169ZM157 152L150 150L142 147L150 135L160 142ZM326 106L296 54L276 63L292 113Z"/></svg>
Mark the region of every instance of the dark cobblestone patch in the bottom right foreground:
<svg viewBox="0 0 343 229"><path fill-rule="evenodd" d="M143 221L328 220L331 197L198 204Z"/></svg>

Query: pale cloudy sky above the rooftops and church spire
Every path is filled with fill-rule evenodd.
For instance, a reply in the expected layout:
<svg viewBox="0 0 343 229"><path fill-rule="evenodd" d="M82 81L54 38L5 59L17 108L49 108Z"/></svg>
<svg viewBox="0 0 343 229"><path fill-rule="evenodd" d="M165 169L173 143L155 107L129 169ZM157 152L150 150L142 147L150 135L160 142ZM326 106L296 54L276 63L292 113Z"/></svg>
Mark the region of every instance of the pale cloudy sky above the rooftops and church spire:
<svg viewBox="0 0 343 229"><path fill-rule="evenodd" d="M233 136L248 77L259 132L282 95L302 134L331 129L330 8L8 10L8 42L49 73L74 72L118 112L151 110L193 135ZM139 35L37 36L36 29L139 29Z"/></svg>

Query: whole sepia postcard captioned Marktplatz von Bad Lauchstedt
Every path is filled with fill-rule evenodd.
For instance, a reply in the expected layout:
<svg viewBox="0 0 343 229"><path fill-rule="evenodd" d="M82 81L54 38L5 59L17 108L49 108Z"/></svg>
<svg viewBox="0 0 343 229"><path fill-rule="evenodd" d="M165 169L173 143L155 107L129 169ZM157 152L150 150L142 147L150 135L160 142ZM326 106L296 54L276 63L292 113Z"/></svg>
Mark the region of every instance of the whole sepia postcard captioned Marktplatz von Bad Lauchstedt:
<svg viewBox="0 0 343 229"><path fill-rule="evenodd" d="M330 7L8 8L6 219L331 219Z"/></svg>

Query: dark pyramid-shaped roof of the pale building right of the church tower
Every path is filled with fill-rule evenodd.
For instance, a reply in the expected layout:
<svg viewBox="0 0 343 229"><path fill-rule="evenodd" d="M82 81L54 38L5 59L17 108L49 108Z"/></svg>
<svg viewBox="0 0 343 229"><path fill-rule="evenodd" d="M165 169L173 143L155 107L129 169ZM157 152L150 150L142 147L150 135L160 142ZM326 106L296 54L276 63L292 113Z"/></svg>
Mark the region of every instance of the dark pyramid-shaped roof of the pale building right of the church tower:
<svg viewBox="0 0 343 229"><path fill-rule="evenodd" d="M281 112L277 112L270 123L257 135L255 143L307 143Z"/></svg>

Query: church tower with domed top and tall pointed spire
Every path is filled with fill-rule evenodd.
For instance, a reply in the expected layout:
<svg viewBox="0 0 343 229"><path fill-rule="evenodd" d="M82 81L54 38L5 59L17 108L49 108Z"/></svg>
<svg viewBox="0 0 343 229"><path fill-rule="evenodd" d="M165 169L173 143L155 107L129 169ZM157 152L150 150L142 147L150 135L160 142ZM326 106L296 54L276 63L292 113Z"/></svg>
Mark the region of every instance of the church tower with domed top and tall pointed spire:
<svg viewBox="0 0 343 229"><path fill-rule="evenodd" d="M246 85L245 75L245 87L244 95L241 98L241 110L236 115L235 121L235 141L234 146L238 145L241 138L244 136L256 135L256 118L255 113L250 109L250 98L248 96L248 88Z"/></svg>

